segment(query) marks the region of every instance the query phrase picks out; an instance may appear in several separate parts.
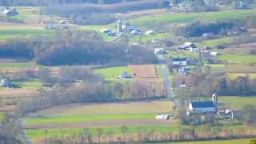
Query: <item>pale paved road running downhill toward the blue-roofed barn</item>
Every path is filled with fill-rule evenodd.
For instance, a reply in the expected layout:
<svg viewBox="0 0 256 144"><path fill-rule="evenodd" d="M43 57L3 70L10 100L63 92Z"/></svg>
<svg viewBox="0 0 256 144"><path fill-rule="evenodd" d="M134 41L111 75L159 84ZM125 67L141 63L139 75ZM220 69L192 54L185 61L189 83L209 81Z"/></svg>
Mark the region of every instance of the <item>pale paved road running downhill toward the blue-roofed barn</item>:
<svg viewBox="0 0 256 144"><path fill-rule="evenodd" d="M166 86L166 91L167 91L167 97L170 98L172 102L174 102L175 106L180 106L180 103L178 102L177 99L174 98L173 92L170 90L170 82L169 82L169 70L166 66L166 58L162 54L156 54L158 60L161 62L161 69L162 69L162 77L164 78L164 83Z"/></svg>

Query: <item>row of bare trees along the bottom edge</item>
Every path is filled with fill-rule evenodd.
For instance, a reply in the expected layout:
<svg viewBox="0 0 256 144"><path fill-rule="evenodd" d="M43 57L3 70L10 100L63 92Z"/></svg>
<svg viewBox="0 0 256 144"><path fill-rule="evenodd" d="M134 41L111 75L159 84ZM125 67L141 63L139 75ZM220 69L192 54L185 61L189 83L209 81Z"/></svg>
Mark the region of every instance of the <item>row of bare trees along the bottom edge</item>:
<svg viewBox="0 0 256 144"><path fill-rule="evenodd" d="M47 143L147 143L147 142L185 142L205 141L228 138L253 138L253 128L227 129L223 126L190 126L181 127L179 130L167 130L158 132L154 128L146 129L138 126L134 133L129 133L128 126L119 127L121 134L114 134L112 130L97 128L94 133L90 129L64 136L62 134L48 136L50 130L45 130L45 138L42 142ZM249 135L246 135L249 134ZM246 136L245 136L246 135Z"/></svg>

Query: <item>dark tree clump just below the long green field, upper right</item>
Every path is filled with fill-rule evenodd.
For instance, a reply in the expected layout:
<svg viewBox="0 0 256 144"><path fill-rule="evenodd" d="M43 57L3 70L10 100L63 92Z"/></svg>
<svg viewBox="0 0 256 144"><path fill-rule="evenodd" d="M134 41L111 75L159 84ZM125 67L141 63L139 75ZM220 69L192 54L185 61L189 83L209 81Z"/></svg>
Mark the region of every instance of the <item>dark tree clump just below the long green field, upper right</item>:
<svg viewBox="0 0 256 144"><path fill-rule="evenodd" d="M229 30L239 30L242 22L226 20L214 23L194 22L187 26L179 27L177 34L186 38L201 37L202 34L226 34Z"/></svg>

